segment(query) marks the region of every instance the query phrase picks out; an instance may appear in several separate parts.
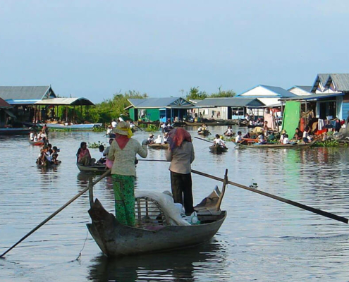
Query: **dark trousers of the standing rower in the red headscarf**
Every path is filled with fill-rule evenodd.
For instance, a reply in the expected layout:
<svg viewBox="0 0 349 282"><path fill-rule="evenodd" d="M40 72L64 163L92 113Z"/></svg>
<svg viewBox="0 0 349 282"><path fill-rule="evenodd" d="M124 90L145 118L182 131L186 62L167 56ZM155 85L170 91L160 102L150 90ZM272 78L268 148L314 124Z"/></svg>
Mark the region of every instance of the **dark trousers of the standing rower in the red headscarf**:
<svg viewBox="0 0 349 282"><path fill-rule="evenodd" d="M176 203L183 204L185 214L192 214L192 175L181 174L171 171L171 190L173 200Z"/></svg>

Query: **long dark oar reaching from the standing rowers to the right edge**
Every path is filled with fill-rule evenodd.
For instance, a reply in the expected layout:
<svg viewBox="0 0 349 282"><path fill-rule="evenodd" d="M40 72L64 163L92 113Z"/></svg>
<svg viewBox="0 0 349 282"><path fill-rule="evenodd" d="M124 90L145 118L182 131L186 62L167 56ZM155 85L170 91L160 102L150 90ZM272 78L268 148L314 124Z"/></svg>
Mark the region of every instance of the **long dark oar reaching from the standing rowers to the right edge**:
<svg viewBox="0 0 349 282"><path fill-rule="evenodd" d="M140 161L165 161L165 160L157 160L157 159L140 159ZM194 169L192 169L192 173L195 173L195 174L199 174L200 176L205 176L205 177L208 177L208 178L212 178L214 180L219 180L221 182L224 182L224 179L223 178L219 178L219 177L216 177L216 176L212 176L210 174L207 174L207 173L203 173L201 171L195 171ZM321 209L315 209L314 207L309 207L305 204L300 204L299 202L294 202L294 201L291 201L291 200L288 200L288 199L285 199L283 197L278 197L276 195L272 195L272 194L269 194L267 192L263 192L261 190L257 190L257 189L254 189L254 188L250 188L250 187L247 187L245 185L241 185L241 184L238 184L238 183L234 183L232 181L228 181L227 182L228 184L231 184L235 187L238 187L238 188L243 188L245 190L249 190L251 192L255 192L257 194L260 194L260 195L263 195L263 196L266 196L266 197L269 197L271 199L274 199L274 200L278 200L280 202L285 202L286 204L292 204L293 206L295 207L299 207L300 209L305 209L309 212L313 212L314 214L319 214L321 216L326 216L328 217L329 219L334 219L336 221L341 221L343 223L348 223L349 219L343 217L343 216L337 216L336 214L331 214L330 212L325 212L325 211L322 211Z"/></svg>

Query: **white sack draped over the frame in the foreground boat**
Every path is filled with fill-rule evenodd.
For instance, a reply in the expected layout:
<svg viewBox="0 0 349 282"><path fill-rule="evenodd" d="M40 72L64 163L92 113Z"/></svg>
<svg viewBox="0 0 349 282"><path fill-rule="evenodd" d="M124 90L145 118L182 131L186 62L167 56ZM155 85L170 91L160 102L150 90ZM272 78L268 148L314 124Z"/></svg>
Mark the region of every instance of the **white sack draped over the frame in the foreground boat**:
<svg viewBox="0 0 349 282"><path fill-rule="evenodd" d="M173 202L173 197L160 192L149 192L149 191L137 191L135 192L135 197L148 197L152 200L158 202L164 215L166 216L166 221L169 225L179 225L179 226L189 226L190 223L182 219L180 216L180 209L176 207Z"/></svg>

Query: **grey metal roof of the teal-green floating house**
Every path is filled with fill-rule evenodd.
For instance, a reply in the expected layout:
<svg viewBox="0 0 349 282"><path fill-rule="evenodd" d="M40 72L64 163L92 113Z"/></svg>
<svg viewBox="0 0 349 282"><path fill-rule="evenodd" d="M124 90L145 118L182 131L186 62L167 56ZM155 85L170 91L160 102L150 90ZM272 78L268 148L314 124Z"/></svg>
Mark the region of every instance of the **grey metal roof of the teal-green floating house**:
<svg viewBox="0 0 349 282"><path fill-rule="evenodd" d="M128 99L135 108L165 108L165 107L193 107L194 105L181 97ZM128 107L129 108L129 107Z"/></svg>

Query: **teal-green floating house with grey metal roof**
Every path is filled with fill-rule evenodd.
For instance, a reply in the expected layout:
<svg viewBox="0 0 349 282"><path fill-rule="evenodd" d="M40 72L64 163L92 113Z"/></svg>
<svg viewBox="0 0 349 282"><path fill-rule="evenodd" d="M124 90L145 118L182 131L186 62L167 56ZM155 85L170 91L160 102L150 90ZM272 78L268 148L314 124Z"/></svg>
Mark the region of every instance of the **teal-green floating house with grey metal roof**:
<svg viewBox="0 0 349 282"><path fill-rule="evenodd" d="M191 116L195 108L194 104L181 97L128 99L128 102L130 106L125 109L133 121L166 122L168 119L175 121L176 118L181 121Z"/></svg>

